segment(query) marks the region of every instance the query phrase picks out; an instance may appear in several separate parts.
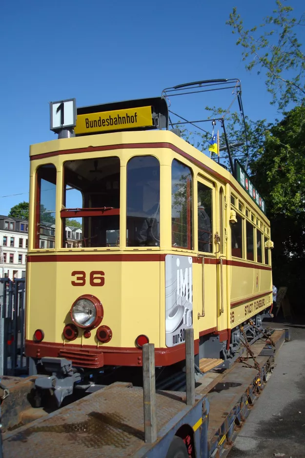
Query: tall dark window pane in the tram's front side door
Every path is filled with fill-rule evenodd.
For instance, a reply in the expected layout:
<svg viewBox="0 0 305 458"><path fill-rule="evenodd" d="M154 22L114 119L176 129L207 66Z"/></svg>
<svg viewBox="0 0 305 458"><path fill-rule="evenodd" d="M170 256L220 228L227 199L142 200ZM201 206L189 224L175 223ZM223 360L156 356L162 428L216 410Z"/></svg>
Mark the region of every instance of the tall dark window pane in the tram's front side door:
<svg viewBox="0 0 305 458"><path fill-rule="evenodd" d="M198 251L211 253L212 189L198 182Z"/></svg>

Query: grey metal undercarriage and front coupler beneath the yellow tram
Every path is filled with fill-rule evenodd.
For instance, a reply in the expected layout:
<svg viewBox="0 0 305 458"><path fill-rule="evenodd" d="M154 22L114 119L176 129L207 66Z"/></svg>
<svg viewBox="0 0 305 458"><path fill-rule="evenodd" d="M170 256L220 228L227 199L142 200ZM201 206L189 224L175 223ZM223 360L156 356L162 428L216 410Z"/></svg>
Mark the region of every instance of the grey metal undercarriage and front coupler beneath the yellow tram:
<svg viewBox="0 0 305 458"><path fill-rule="evenodd" d="M230 367L244 353L244 348L247 349L249 345L265 334L262 321L271 316L269 312L264 311L263 314L257 314L232 329L229 344L227 340L220 342L219 336L213 334L201 339L199 354L195 355L195 375L203 375L199 369L199 361L202 358L221 358L223 363L217 366L219 370ZM125 379L129 381L132 379L134 385L142 386L142 371L137 367L104 367L85 371L82 368L73 367L71 361L60 357L43 357L40 363L41 372L51 375L38 377L35 381L36 389L38 393L44 390L50 391L58 407L61 406L66 396L73 395L75 389L79 393L82 391L83 394L90 394L114 381ZM156 379L159 389L183 391L185 389L184 361L172 366L156 368Z"/></svg>

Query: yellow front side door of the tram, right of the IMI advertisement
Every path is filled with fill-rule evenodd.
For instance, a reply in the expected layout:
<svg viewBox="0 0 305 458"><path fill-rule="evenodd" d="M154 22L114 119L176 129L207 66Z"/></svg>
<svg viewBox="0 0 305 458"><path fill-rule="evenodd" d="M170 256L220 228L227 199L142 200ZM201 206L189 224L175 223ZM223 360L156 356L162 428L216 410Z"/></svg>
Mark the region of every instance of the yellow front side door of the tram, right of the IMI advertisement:
<svg viewBox="0 0 305 458"><path fill-rule="evenodd" d="M215 243L219 212L216 188L212 181L197 179L198 196L198 326L199 335L217 330L219 244Z"/></svg>

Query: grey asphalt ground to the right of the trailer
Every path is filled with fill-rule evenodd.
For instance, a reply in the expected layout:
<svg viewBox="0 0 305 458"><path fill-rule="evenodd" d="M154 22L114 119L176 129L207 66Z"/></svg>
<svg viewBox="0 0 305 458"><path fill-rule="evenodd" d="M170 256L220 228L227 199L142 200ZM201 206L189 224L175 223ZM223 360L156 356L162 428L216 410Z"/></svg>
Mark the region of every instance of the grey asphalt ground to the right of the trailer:
<svg viewBox="0 0 305 458"><path fill-rule="evenodd" d="M305 458L305 320L266 323L289 328L273 374L256 401L228 458Z"/></svg>

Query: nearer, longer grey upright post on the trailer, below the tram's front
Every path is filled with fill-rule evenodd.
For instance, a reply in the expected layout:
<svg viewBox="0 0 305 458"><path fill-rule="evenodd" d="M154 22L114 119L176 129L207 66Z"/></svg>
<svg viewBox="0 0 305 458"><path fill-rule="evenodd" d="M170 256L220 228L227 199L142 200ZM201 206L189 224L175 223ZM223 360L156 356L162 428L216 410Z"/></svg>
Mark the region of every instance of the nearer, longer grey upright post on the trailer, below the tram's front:
<svg viewBox="0 0 305 458"><path fill-rule="evenodd" d="M157 440L155 346L143 345L143 401L145 442Z"/></svg>

